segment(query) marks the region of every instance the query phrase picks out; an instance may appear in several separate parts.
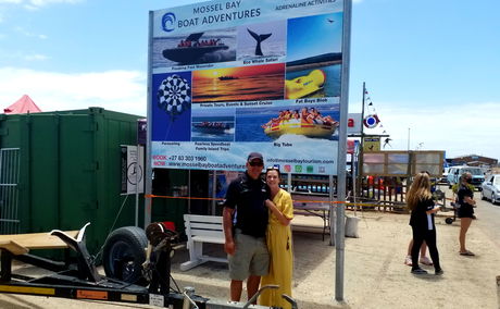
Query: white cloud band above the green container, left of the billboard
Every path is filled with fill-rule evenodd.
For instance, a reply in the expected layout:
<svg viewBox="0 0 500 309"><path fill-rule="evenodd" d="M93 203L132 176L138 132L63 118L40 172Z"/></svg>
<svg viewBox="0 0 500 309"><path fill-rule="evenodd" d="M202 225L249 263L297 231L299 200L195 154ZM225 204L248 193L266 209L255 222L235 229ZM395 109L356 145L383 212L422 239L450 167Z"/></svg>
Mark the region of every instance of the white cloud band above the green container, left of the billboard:
<svg viewBox="0 0 500 309"><path fill-rule="evenodd" d="M65 74L0 67L0 108L28 95L42 111L101 107L146 115L146 74L107 71Z"/></svg>

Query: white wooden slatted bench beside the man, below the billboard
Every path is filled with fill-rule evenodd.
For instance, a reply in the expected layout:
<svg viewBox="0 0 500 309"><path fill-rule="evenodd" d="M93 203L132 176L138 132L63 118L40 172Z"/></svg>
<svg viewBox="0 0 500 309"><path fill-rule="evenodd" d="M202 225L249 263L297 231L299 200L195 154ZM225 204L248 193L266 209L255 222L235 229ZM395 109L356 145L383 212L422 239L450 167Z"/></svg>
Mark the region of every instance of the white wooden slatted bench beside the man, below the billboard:
<svg viewBox="0 0 500 309"><path fill-rule="evenodd" d="M189 261L180 264L182 271L190 270L208 261L225 262L227 258L217 258L203 255L203 243L224 244L224 228L222 217L185 214L184 225L188 237L187 248Z"/></svg>

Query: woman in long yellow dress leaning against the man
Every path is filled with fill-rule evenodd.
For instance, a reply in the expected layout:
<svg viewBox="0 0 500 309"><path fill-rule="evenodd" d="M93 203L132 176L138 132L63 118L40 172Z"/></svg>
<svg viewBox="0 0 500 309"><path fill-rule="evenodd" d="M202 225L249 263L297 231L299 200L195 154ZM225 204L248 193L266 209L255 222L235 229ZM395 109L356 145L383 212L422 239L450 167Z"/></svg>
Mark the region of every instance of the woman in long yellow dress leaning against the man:
<svg viewBox="0 0 500 309"><path fill-rule="evenodd" d="M262 293L259 298L259 305L291 308L291 305L282 297L282 294L291 297L293 251L290 221L293 219L293 205L290 194L279 188L279 182L282 181L279 169L267 169L265 180L271 189L272 199L265 201L270 209L266 238L271 263L270 273L262 277L261 286L276 284L279 285L279 288L267 289Z"/></svg>

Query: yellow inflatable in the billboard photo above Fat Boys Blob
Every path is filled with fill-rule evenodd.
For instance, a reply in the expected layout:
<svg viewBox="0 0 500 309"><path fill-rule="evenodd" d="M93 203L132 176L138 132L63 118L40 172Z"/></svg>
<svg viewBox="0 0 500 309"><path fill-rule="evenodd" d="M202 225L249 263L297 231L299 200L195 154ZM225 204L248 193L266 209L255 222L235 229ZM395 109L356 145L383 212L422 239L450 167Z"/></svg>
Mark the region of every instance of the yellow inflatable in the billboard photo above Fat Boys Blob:
<svg viewBox="0 0 500 309"><path fill-rule="evenodd" d="M305 76L285 81L285 98L300 99L323 89L326 74L322 70L313 70Z"/></svg>

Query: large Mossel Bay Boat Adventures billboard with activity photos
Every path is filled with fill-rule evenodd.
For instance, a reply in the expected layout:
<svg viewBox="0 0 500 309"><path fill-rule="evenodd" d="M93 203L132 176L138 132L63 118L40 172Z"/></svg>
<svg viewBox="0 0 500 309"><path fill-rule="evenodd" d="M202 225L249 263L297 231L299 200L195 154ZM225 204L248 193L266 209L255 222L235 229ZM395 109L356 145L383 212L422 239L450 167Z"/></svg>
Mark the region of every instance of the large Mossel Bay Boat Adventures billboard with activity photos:
<svg viewBox="0 0 500 309"><path fill-rule="evenodd" d="M151 168L337 174L342 1L150 12ZM347 100L346 100L347 101Z"/></svg>

